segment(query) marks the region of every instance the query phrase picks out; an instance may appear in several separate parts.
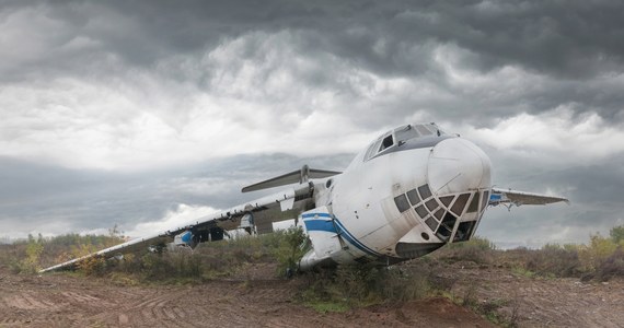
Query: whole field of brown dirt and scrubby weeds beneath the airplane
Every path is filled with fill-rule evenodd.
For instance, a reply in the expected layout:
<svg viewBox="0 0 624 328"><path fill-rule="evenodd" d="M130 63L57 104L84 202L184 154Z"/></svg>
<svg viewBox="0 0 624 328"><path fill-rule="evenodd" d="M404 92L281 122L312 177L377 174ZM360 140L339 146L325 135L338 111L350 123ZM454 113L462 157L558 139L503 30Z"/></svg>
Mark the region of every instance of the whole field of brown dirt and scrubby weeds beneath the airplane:
<svg viewBox="0 0 624 328"><path fill-rule="evenodd" d="M279 249L279 243L203 245L193 254L163 256L158 267L169 271L155 273L145 272L149 270L145 263L154 259L146 255L149 260L143 266L135 259L90 274L43 276L18 272L11 260L22 253L27 258L27 246L5 245L0 247L0 327L622 327L624 323L622 277L587 278L581 267L569 271L579 277L539 270L543 267L539 259L553 247L502 251L476 243L389 269L343 268L286 279L276 260L279 256L268 256L263 248Z"/></svg>

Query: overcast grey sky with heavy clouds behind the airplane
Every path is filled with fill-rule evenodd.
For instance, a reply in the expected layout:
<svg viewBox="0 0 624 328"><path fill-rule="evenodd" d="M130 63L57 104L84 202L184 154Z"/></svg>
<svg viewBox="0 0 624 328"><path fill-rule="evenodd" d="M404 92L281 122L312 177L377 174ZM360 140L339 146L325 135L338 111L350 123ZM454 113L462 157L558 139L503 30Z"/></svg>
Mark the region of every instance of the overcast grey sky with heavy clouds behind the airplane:
<svg viewBox="0 0 624 328"><path fill-rule="evenodd" d="M573 201L494 209L481 235L624 224L624 3L335 2L0 4L0 236L140 233L413 121Z"/></svg>

